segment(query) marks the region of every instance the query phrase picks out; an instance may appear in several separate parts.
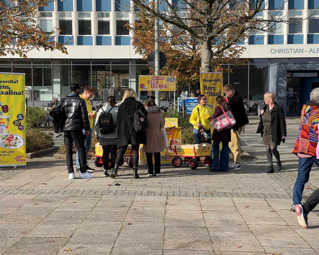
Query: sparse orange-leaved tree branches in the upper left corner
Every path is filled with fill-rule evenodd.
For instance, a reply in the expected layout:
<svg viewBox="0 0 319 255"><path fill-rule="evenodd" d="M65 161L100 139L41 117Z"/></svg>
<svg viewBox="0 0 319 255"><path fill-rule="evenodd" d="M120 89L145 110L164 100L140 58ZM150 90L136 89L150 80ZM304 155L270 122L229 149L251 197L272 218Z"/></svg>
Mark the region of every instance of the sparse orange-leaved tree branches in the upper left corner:
<svg viewBox="0 0 319 255"><path fill-rule="evenodd" d="M19 55L25 57L33 49L60 50L67 54L65 44L55 40L58 28L42 31L39 18L44 14L39 7L47 6L56 0L0 0L0 56ZM61 1L61 0L58 0Z"/></svg>

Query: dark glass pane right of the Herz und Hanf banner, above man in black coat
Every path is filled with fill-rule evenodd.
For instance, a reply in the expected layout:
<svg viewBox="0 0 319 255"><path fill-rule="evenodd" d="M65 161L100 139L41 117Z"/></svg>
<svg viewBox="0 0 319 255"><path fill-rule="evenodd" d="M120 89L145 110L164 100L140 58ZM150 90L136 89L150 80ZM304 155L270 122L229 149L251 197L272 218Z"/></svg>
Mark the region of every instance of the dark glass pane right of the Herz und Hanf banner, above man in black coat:
<svg viewBox="0 0 319 255"><path fill-rule="evenodd" d="M248 65L229 65L229 68L233 70L233 73L229 74L229 83L246 100L248 98Z"/></svg>

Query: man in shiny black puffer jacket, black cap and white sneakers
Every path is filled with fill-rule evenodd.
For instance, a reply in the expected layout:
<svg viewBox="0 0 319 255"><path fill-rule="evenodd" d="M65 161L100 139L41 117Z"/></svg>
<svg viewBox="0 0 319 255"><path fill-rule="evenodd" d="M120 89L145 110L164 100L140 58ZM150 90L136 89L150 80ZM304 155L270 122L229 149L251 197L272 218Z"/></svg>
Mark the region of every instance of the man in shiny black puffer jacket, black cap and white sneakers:
<svg viewBox="0 0 319 255"><path fill-rule="evenodd" d="M80 159L80 178L93 178L94 176L86 171L85 158L85 135L89 135L90 121L86 109L85 101L80 98L82 87L78 83L70 85L71 93L62 98L58 107L65 114L64 124L64 143L66 148L66 164L68 167L69 178L74 179L75 173L73 169L73 141L77 147ZM85 129L85 135L83 134Z"/></svg>

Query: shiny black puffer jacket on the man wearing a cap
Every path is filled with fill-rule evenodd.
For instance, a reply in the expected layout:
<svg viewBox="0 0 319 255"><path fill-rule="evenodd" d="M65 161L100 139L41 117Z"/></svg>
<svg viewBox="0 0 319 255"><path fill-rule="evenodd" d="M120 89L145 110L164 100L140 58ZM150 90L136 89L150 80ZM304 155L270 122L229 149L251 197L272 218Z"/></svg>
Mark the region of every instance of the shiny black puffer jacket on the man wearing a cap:
<svg viewBox="0 0 319 255"><path fill-rule="evenodd" d="M79 95L67 95L62 98L58 107L61 108L65 116L63 130L90 130L90 121L86 109L85 101Z"/></svg>

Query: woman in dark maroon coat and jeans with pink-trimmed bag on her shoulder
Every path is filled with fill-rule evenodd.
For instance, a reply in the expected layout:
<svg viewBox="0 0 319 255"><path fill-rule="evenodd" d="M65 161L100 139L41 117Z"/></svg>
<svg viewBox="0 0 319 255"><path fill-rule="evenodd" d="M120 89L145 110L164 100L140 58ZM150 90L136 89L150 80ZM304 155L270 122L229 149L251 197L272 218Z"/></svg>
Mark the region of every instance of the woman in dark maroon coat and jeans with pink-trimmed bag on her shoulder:
<svg viewBox="0 0 319 255"><path fill-rule="evenodd" d="M212 119L217 118L224 112L231 111L230 106L226 102L225 98L218 96L216 98L216 108ZM231 129L227 128L218 132L214 129L211 136L213 141L213 164L211 165L210 172L228 172L228 158L229 158L229 146L228 143L231 141ZM222 143L222 149L219 157L219 144Z"/></svg>

